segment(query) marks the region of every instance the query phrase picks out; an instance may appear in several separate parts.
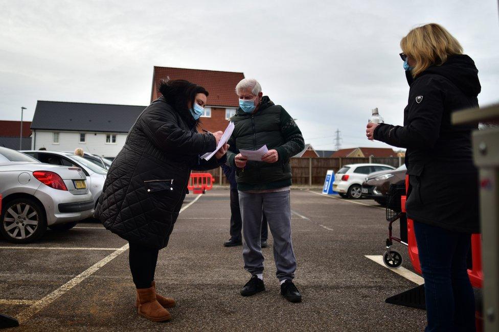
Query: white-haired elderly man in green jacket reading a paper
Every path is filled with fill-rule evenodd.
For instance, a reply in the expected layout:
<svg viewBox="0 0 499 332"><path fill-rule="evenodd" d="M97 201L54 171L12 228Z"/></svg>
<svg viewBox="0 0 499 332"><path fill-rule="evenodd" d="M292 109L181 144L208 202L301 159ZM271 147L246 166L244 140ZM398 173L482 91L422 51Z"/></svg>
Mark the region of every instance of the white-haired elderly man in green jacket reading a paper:
<svg viewBox="0 0 499 332"><path fill-rule="evenodd" d="M241 295L251 296L265 290L260 246L263 211L274 239L281 294L291 302L300 302L302 296L292 281L297 264L291 243L289 158L304 149L303 136L286 110L263 96L262 87L256 80L241 80L236 93L240 107L231 118L235 128L229 139L227 164L236 168L244 268L252 274ZM259 161L250 161L239 153L239 150L258 150L264 145L268 152Z"/></svg>

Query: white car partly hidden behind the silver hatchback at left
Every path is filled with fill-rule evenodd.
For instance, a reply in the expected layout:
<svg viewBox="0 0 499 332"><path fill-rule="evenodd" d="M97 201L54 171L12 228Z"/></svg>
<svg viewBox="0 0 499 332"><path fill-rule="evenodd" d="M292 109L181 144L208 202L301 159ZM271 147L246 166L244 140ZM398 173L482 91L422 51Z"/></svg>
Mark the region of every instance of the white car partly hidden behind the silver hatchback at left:
<svg viewBox="0 0 499 332"><path fill-rule="evenodd" d="M94 198L94 208L97 206L97 201L102 194L102 188L104 187L104 182L106 181L106 170L97 166L92 161L74 155L72 153L40 150L21 152L26 153L27 155L38 159L41 162L55 165L78 167L82 169L83 173L85 173L86 175L88 189L90 189L90 192L92 193L92 196Z"/></svg>

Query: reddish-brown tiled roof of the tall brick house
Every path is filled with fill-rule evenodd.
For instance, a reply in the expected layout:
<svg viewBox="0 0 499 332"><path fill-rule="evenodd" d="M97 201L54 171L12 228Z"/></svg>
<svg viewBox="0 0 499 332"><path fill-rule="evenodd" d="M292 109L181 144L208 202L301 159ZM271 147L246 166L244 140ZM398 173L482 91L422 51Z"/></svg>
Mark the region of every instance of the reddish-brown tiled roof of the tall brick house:
<svg viewBox="0 0 499 332"><path fill-rule="evenodd" d="M206 105L239 107L235 92L237 83L244 78L243 73L219 72L217 70L187 69L154 66L152 77L151 102L154 88L158 88L162 80L187 80L204 87L208 92ZM161 95L161 93L158 93Z"/></svg>

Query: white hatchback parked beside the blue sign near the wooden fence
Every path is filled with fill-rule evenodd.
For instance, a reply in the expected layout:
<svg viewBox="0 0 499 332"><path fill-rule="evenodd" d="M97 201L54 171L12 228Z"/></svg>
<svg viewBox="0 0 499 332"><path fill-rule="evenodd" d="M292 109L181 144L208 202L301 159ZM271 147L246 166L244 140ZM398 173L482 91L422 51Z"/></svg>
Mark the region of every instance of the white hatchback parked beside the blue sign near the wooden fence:
<svg viewBox="0 0 499 332"><path fill-rule="evenodd" d="M373 172L395 170L395 167L379 163L355 163L342 167L335 175L333 190L341 197L359 199L362 196L362 182Z"/></svg>

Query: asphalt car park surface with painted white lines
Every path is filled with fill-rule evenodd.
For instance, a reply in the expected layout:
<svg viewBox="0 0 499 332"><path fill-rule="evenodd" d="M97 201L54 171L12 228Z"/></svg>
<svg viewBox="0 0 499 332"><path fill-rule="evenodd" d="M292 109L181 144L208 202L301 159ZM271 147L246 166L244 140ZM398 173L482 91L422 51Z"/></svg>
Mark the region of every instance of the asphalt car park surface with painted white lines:
<svg viewBox="0 0 499 332"><path fill-rule="evenodd" d="M366 257L384 252L384 209L302 190L291 191L291 208L302 303L279 294L271 236L263 249L266 291L239 295L250 275L242 247L222 246L229 191L216 189L186 198L160 251L157 291L178 303L170 322L137 315L126 241L89 220L25 246L0 241L0 313L20 320L12 330L424 329L424 311L384 303L416 284ZM403 266L411 270L408 259Z"/></svg>

